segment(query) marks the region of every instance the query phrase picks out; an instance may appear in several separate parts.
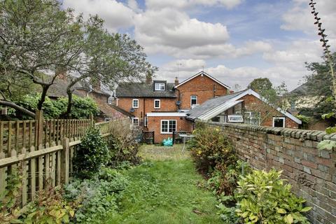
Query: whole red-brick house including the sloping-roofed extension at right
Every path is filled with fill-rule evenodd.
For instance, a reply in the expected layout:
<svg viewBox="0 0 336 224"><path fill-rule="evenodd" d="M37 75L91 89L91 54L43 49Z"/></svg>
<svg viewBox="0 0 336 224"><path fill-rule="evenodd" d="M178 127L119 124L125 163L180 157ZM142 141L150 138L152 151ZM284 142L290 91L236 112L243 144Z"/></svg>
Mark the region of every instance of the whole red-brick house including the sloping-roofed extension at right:
<svg viewBox="0 0 336 224"><path fill-rule="evenodd" d="M240 118L240 123L251 120L255 125L293 128L301 122L286 111L268 106L272 116L257 124L252 107L266 104L259 94L253 90L232 94L228 85L204 71L181 83L177 78L174 83L150 78L146 83L120 83L115 97L116 106L132 114L133 125L154 131L155 143L172 137L173 132L191 132L197 119L237 122L235 118Z"/></svg>

